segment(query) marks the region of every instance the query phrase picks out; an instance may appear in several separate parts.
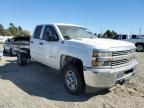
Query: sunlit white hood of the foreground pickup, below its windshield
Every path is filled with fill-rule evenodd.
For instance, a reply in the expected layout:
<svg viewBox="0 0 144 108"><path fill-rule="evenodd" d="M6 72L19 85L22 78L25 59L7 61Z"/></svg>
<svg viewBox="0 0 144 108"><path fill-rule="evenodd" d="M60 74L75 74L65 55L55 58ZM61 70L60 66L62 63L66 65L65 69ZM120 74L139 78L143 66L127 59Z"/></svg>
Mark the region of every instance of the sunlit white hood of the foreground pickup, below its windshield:
<svg viewBox="0 0 144 108"><path fill-rule="evenodd" d="M83 45L88 45L93 49L100 49L100 50L109 50L118 48L127 48L127 49L134 49L135 45L130 42L120 41L120 40L113 40L113 39L102 39L102 38L79 38L79 39L71 39L69 40L74 43L79 43ZM86 47L86 46L83 46ZM124 49L123 49L124 50Z"/></svg>

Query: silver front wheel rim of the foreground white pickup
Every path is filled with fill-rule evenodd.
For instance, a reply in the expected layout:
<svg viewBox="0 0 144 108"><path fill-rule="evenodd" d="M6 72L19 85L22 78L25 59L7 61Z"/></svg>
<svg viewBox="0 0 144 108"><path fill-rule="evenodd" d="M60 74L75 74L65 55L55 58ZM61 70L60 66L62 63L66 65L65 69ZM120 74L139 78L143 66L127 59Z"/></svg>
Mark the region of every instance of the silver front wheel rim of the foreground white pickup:
<svg viewBox="0 0 144 108"><path fill-rule="evenodd" d="M70 90L77 89L77 77L74 72L68 71L65 76L66 85Z"/></svg>

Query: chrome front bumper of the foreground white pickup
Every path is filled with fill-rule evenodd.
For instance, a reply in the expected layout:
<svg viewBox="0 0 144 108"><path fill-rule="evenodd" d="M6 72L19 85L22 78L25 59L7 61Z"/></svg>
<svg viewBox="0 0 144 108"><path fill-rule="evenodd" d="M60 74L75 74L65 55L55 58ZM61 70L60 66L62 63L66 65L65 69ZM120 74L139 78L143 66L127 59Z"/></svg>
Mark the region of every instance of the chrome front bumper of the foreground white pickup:
<svg viewBox="0 0 144 108"><path fill-rule="evenodd" d="M138 62L133 60L129 65L112 69L95 69L84 67L86 93L111 88L117 82L129 80L136 72Z"/></svg>

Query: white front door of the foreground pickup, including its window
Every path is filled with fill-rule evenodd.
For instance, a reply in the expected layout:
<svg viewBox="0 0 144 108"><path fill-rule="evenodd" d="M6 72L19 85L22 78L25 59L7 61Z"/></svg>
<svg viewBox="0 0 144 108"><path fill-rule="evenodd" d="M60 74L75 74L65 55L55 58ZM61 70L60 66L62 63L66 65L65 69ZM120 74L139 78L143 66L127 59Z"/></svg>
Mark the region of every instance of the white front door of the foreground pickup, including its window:
<svg viewBox="0 0 144 108"><path fill-rule="evenodd" d="M53 26L45 26L42 35L42 44L43 62L50 67L58 69L60 41L58 34Z"/></svg>

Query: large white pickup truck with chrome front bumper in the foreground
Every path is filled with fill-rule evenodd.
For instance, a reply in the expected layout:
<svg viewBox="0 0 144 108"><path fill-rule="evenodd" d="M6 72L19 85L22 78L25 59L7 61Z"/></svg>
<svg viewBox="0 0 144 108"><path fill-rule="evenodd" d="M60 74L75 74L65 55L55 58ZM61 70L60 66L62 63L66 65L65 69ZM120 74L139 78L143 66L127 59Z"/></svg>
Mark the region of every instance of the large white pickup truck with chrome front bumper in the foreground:
<svg viewBox="0 0 144 108"><path fill-rule="evenodd" d="M29 51L21 49L17 54L18 64L26 64L29 57L58 70L71 94L123 84L134 75L138 64L133 43L99 39L72 24L36 26Z"/></svg>

